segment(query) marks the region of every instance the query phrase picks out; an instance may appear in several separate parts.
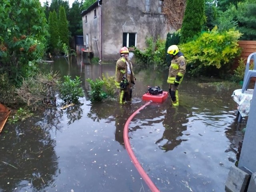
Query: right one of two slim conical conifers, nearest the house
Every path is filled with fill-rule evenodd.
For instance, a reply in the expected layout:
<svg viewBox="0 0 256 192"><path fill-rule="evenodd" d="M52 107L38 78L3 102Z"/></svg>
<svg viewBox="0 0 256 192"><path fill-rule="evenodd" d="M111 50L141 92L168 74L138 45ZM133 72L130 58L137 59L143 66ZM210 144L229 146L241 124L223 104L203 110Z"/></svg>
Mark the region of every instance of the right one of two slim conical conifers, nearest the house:
<svg viewBox="0 0 256 192"><path fill-rule="evenodd" d="M62 43L69 45L68 41L68 20L66 18L66 12L63 6L60 6L59 10L59 21L58 21L58 28L60 34L60 40Z"/></svg>

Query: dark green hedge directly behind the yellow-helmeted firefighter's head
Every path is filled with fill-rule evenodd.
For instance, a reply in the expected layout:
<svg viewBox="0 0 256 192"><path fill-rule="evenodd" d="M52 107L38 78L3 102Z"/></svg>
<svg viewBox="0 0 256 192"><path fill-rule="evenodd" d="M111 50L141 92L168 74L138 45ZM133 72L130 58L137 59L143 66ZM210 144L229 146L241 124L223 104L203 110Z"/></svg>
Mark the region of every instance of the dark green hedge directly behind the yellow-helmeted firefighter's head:
<svg viewBox="0 0 256 192"><path fill-rule="evenodd" d="M166 37L165 44L165 55L166 55L166 66L169 66L171 63L171 56L167 54L168 47L171 45L178 45L180 43L180 30L174 32L173 34L168 33Z"/></svg>

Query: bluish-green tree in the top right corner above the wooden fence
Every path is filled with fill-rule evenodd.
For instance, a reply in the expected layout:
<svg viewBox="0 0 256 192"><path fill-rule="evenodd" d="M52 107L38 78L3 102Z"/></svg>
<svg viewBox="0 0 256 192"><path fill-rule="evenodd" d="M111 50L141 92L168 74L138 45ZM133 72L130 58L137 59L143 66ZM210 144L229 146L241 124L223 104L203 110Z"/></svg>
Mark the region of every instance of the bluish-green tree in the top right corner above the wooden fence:
<svg viewBox="0 0 256 192"><path fill-rule="evenodd" d="M238 30L243 33L242 40L256 40L256 0L238 2Z"/></svg>

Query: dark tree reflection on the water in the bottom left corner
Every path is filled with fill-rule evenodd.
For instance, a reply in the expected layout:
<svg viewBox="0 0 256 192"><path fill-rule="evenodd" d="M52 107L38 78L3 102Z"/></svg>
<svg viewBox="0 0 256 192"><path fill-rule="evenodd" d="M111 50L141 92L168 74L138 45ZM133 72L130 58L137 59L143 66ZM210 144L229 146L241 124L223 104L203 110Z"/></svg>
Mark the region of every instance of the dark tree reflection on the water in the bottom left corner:
<svg viewBox="0 0 256 192"><path fill-rule="evenodd" d="M50 133L26 120L1 137L0 191L42 191L58 176L56 141ZM15 189L15 190L14 190Z"/></svg>

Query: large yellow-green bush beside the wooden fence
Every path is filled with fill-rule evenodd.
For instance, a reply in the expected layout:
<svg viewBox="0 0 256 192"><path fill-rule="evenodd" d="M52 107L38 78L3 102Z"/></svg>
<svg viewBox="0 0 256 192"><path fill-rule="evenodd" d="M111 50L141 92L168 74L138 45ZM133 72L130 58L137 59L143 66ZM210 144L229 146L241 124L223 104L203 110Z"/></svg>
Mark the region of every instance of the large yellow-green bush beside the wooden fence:
<svg viewBox="0 0 256 192"><path fill-rule="evenodd" d="M193 76L219 75L222 68L230 70L230 62L240 54L238 39L241 33L234 30L218 32L215 27L202 33L196 40L180 45Z"/></svg>

